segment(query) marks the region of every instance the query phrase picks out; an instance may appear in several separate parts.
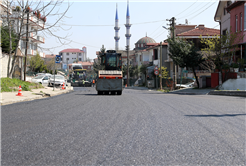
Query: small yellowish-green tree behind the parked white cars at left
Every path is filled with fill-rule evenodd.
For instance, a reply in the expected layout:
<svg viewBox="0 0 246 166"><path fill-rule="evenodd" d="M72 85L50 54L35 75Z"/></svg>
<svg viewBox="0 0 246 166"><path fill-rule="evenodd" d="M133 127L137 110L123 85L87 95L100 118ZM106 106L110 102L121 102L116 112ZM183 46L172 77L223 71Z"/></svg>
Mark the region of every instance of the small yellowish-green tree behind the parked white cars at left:
<svg viewBox="0 0 246 166"><path fill-rule="evenodd" d="M44 64L44 60L40 57L39 54L28 57L29 68L34 72L43 72L47 70L46 65Z"/></svg>

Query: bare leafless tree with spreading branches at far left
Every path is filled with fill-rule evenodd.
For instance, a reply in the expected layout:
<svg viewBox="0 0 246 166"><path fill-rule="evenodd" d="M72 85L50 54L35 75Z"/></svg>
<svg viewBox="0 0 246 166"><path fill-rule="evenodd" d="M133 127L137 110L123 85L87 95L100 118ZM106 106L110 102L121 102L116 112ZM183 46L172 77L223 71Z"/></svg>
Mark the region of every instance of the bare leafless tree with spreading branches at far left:
<svg viewBox="0 0 246 166"><path fill-rule="evenodd" d="M4 1L6 8L3 8L3 14L0 18L3 20L3 27L6 28L8 33L5 33L5 39L2 41L2 44L8 46L9 60L7 65L7 77L11 77L14 72L14 64L17 60L17 50L20 48L20 40L26 36L27 33L34 33L42 31L45 36L53 36L58 39L60 44L66 43L67 37L57 36L55 32L58 32L59 28L63 26L58 25L59 22L64 18L66 12L68 11L70 5L65 9L64 12L60 12L60 5L63 3L63 0L37 0L37 1ZM14 8L14 3L18 6ZM30 6L34 10L30 8ZM14 8L14 9L13 9ZM12 10L13 9L13 10ZM12 15L11 15L12 12ZM41 15L42 13L42 15ZM36 24L41 24L41 22L46 22L46 17L52 18L52 20L46 23L46 27L39 28L38 30L27 30L30 24L33 24L33 21L29 21L29 24L25 22L27 15L34 16L36 15L33 21ZM14 16L14 18L13 18ZM53 19L54 18L54 19ZM15 35L12 33L14 30ZM3 32L3 31L2 31ZM24 41L23 41L24 42Z"/></svg>

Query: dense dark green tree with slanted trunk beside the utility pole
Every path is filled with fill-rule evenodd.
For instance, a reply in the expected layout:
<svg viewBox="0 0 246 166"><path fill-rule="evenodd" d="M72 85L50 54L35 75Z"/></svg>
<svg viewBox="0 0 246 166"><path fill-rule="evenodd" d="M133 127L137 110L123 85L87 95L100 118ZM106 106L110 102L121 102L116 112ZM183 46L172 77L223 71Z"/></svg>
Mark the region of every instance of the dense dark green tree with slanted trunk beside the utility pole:
<svg viewBox="0 0 246 166"><path fill-rule="evenodd" d="M204 61L202 55L195 48L193 43L189 43L183 39L168 38L169 56L174 63L181 68L191 68L196 78L197 86L199 87L198 78L196 76L195 67Z"/></svg>

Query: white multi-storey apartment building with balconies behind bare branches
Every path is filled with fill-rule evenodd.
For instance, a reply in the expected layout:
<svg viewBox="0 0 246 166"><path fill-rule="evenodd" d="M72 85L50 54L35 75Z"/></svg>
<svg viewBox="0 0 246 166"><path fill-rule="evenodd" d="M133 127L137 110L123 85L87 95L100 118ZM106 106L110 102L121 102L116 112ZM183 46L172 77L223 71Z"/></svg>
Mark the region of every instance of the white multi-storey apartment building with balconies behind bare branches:
<svg viewBox="0 0 246 166"><path fill-rule="evenodd" d="M20 9L21 10L21 9ZM21 39L19 42L19 50L21 51L21 55L25 55L26 50L26 28L27 28L27 14L24 16L22 15L22 12L18 12L18 7L12 8L12 13L9 15L9 18L11 20L11 24L14 25L14 30L16 33L19 33L21 31ZM23 26L21 27L21 19L24 17ZM7 25L7 15L2 15L3 23L2 25ZM44 29L46 18L42 17L41 15L38 17L37 12L33 12L30 9L29 13L29 20L28 20L28 49L27 49L27 55L36 55L39 53L41 57L45 57L45 54L38 49L39 44L43 44L45 42L45 39L38 35L39 31L42 31Z"/></svg>

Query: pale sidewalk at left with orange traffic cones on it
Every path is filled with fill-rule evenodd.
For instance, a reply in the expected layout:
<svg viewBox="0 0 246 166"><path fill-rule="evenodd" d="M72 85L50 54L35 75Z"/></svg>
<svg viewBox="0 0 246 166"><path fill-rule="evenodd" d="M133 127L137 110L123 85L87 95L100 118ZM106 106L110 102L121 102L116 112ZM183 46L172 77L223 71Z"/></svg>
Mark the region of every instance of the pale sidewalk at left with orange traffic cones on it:
<svg viewBox="0 0 246 166"><path fill-rule="evenodd" d="M40 89L32 89L31 91L22 91L23 96L16 96L18 91L16 92L2 92L0 93L0 105L8 105L12 103L18 103L23 101L30 101L36 99L42 99L44 97L51 97L60 95L63 93L69 93L73 91L73 87L66 87L67 89L61 90L60 88L55 88L53 91L53 87L45 87Z"/></svg>

